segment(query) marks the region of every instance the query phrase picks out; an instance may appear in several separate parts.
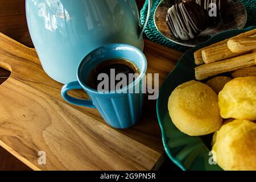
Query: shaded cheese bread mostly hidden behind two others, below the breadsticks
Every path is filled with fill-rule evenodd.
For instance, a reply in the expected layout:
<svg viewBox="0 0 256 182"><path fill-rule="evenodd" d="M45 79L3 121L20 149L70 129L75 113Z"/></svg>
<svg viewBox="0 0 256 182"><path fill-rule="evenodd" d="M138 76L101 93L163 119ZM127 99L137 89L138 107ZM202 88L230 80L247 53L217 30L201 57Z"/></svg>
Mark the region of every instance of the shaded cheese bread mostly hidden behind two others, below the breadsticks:
<svg viewBox="0 0 256 182"><path fill-rule="evenodd" d="M230 80L232 79L227 76L216 76L208 80L206 84L218 94Z"/></svg>

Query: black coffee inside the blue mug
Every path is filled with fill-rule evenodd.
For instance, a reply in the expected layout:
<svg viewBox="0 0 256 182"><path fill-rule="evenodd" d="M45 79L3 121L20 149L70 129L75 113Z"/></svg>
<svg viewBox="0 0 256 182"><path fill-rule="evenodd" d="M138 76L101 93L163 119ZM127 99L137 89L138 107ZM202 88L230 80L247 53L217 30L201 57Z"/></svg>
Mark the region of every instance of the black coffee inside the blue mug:
<svg viewBox="0 0 256 182"><path fill-rule="evenodd" d="M102 82L102 78L100 75L104 74L105 76L108 76L108 91L114 90L113 84L114 83L114 88L117 86L118 82L121 80L115 79L116 76L122 73L122 75L126 76L126 81L127 85L131 84L133 81L135 81L135 78L139 76L140 72L137 67L133 62L126 60L126 59L112 59L112 60L107 60L104 61L103 63L97 65L96 68L93 69L93 71L90 73L89 78L87 80L87 84L93 88L93 89L98 89L98 85ZM129 79L129 77L134 76L133 79ZM114 79L114 80L113 80ZM127 85L122 85L121 89L123 86Z"/></svg>

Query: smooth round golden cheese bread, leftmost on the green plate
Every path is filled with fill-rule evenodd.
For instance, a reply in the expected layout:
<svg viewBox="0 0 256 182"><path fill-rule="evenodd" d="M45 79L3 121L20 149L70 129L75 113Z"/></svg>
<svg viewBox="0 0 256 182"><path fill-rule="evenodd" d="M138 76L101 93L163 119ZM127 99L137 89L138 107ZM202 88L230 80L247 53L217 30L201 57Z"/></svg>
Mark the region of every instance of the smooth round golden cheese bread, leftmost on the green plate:
<svg viewBox="0 0 256 182"><path fill-rule="evenodd" d="M191 136L213 133L222 125L217 94L201 82L177 86L168 100L168 110L174 125Z"/></svg>

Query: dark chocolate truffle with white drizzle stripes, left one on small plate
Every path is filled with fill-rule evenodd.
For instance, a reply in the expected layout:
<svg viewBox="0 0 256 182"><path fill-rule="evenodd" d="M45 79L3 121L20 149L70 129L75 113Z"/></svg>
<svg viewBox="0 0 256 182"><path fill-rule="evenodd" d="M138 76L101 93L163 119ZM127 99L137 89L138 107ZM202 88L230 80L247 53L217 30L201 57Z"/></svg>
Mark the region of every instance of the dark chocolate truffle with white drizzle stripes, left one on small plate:
<svg viewBox="0 0 256 182"><path fill-rule="evenodd" d="M189 40L207 28L207 17L207 11L195 1L183 1L168 10L167 22L176 38Z"/></svg>

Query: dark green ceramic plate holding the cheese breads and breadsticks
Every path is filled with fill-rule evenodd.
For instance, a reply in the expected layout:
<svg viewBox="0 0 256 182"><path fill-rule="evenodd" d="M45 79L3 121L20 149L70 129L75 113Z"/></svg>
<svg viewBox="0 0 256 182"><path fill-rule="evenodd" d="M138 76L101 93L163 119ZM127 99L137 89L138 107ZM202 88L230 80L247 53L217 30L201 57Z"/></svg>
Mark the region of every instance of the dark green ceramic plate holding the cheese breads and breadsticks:
<svg viewBox="0 0 256 182"><path fill-rule="evenodd" d="M158 121L162 130L163 144L167 155L181 169L200 171L222 170L217 164L213 163L212 156L210 155L212 135L190 137L181 133L172 123L167 107L168 98L172 90L184 82L195 80L194 68L196 65L194 63L193 52L205 46L209 46L210 44L253 30L254 28L256 28L256 26L243 30L228 30L222 32L213 36L207 42L199 44L195 48L185 52L175 69L163 82L156 104Z"/></svg>

